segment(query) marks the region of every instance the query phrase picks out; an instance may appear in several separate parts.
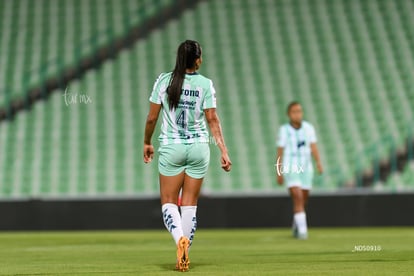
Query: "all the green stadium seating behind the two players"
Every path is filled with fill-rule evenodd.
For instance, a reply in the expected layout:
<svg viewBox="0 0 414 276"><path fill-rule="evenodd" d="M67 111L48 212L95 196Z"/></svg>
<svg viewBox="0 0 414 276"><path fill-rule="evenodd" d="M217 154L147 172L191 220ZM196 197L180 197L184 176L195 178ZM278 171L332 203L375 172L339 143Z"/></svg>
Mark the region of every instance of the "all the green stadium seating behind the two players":
<svg viewBox="0 0 414 276"><path fill-rule="evenodd" d="M22 93L22 72L53 59L64 66L76 62L76 51L90 49L83 41L94 41L109 26L122 35L125 25L145 20L137 11L151 10L152 2L0 1L0 83ZM150 14L168 4L161 1ZM367 148L376 145L375 154L387 157L410 130L412 14L410 0L201 1L116 59L3 121L0 196L156 196L157 164L144 165L141 152L148 97L187 38L202 44L200 72L215 83L233 160L232 172L224 173L211 146L205 195L285 191L275 181L275 139L292 100L303 104L317 131L325 174L316 177L315 190L352 185L355 173L370 167ZM413 184L411 164L378 187Z"/></svg>

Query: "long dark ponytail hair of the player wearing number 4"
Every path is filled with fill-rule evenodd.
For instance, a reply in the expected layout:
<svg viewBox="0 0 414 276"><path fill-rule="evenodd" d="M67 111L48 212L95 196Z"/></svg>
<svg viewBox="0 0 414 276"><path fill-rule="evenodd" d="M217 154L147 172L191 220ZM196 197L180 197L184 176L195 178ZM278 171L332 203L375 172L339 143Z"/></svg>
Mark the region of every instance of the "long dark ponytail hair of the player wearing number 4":
<svg viewBox="0 0 414 276"><path fill-rule="evenodd" d="M170 109L176 109L180 102L181 89L185 78L185 69L194 68L196 59L200 57L201 47L197 41L186 40L178 47L175 68L167 88L168 105L170 106Z"/></svg>

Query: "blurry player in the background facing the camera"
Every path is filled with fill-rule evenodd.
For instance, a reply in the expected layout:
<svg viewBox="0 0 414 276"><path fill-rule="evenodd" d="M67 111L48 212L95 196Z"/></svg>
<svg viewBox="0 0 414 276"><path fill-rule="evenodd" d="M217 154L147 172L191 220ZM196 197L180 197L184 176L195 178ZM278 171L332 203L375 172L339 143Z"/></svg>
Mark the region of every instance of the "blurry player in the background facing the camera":
<svg viewBox="0 0 414 276"><path fill-rule="evenodd" d="M322 163L316 146L314 127L302 120L302 106L292 102L287 108L289 123L279 129L277 141L277 182L286 183L293 200L293 235L307 239L305 206L312 188L313 165L311 155L316 161L319 173L323 172Z"/></svg>

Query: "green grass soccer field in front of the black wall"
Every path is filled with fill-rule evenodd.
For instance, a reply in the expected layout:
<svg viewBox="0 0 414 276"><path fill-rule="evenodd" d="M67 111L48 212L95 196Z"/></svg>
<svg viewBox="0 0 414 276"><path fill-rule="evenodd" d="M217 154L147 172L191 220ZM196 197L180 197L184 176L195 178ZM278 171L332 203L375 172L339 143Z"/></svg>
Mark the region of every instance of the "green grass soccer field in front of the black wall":
<svg viewBox="0 0 414 276"><path fill-rule="evenodd" d="M395 275L414 273L414 228L312 228L196 233L199 275ZM166 230L0 233L0 275L177 275Z"/></svg>

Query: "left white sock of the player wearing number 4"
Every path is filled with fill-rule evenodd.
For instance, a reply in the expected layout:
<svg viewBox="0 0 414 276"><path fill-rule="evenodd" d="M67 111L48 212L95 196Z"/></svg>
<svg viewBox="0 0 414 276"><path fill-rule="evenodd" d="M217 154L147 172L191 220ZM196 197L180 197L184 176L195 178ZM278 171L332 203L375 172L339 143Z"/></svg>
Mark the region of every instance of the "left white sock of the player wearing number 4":
<svg viewBox="0 0 414 276"><path fill-rule="evenodd" d="M162 205L161 210L164 225L173 236L175 244L178 244L180 238L184 236L178 206L173 203L165 203Z"/></svg>

